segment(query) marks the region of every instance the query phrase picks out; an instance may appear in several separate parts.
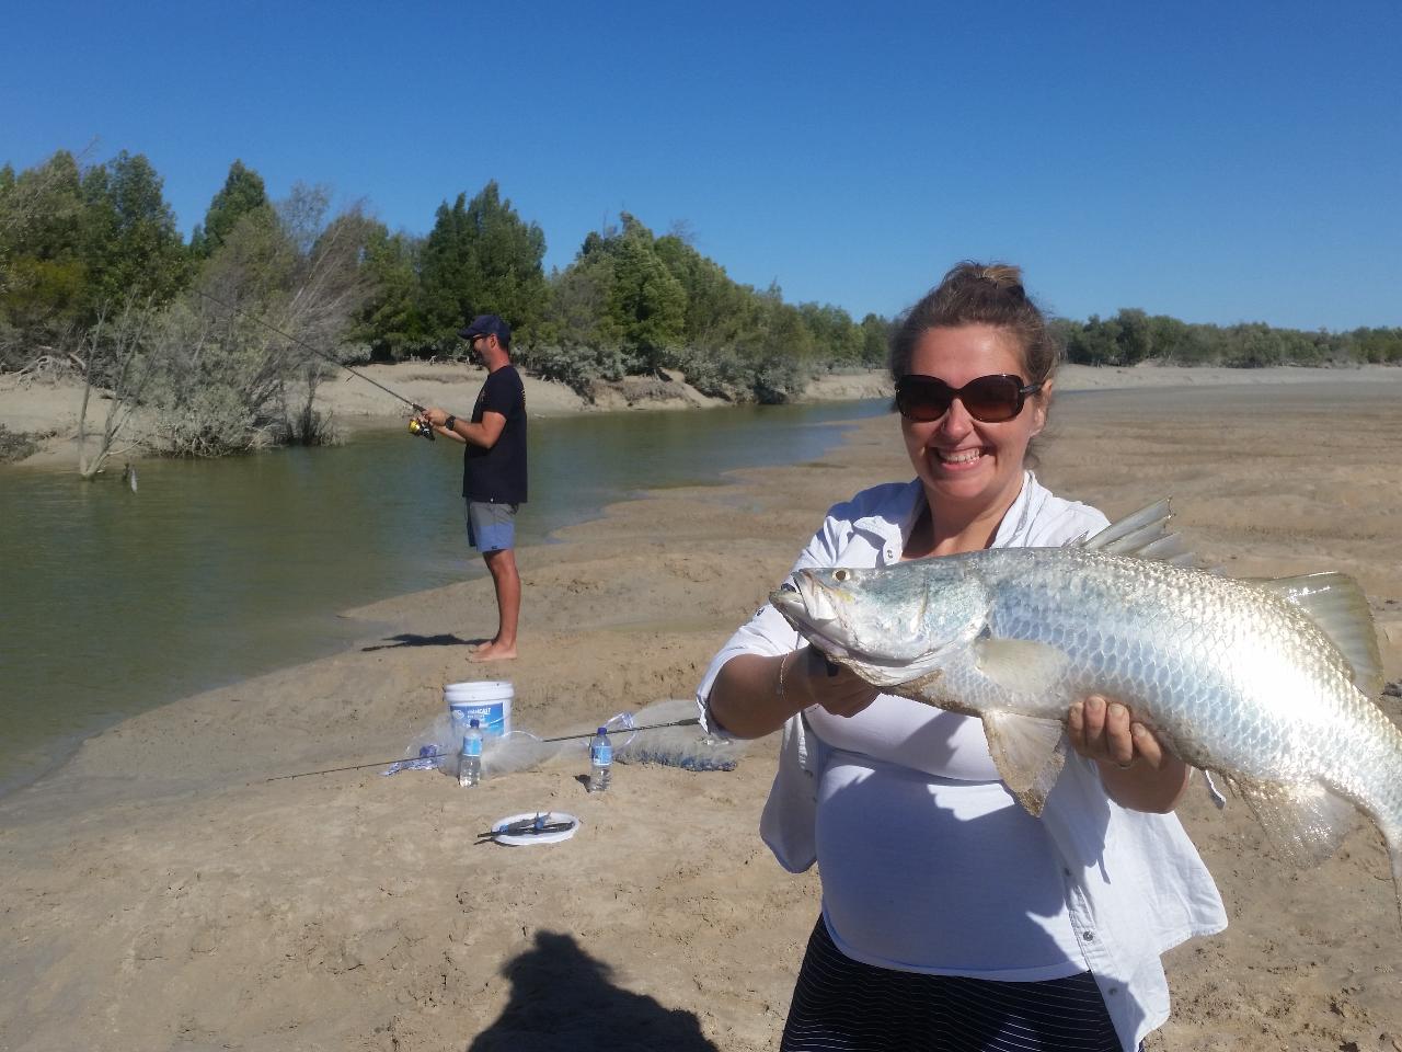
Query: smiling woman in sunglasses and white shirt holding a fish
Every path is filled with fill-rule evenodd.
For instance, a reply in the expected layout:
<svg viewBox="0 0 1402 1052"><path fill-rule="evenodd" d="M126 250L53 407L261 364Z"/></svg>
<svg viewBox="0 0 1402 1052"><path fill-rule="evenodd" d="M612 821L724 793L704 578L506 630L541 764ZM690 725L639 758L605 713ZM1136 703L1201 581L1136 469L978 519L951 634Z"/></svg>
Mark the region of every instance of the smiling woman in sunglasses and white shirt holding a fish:
<svg viewBox="0 0 1402 1052"><path fill-rule="evenodd" d="M1026 467L1057 358L1016 268L953 268L892 339L916 478L834 505L795 571L1057 547L1105 527ZM873 626L911 630L894 610ZM1168 1016L1159 955L1225 926L1171 814L1189 769L1122 704L1089 696L1064 721L1002 724L932 708L834 665L775 603L697 696L732 735L784 728L761 835L785 868L817 861L823 875L785 1051L1133 1049ZM1015 774L1023 756L1064 750L1063 722L1074 755L1060 777Z"/></svg>

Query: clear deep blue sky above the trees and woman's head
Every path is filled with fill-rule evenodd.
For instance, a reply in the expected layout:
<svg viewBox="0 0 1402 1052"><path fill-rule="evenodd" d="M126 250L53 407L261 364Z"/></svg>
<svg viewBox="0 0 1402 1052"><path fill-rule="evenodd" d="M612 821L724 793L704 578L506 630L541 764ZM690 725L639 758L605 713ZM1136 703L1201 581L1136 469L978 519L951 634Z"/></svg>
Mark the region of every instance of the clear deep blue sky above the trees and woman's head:
<svg viewBox="0 0 1402 1052"><path fill-rule="evenodd" d="M391 229L495 178L550 267L628 210L894 314L960 258L1060 314L1402 325L1402 3L11 4L0 161L234 159Z"/></svg>

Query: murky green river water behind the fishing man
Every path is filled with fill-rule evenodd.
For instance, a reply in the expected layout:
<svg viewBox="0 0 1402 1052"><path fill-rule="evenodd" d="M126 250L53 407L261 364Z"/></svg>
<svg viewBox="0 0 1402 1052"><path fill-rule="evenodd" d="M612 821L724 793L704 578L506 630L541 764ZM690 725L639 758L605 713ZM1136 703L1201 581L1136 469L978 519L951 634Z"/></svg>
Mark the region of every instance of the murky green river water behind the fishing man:
<svg viewBox="0 0 1402 1052"><path fill-rule="evenodd" d="M645 490L801 463L889 403L613 412L530 422L520 546ZM365 634L338 612L482 572L461 529L461 446L345 445L143 461L116 478L0 467L0 794L83 738Z"/></svg>

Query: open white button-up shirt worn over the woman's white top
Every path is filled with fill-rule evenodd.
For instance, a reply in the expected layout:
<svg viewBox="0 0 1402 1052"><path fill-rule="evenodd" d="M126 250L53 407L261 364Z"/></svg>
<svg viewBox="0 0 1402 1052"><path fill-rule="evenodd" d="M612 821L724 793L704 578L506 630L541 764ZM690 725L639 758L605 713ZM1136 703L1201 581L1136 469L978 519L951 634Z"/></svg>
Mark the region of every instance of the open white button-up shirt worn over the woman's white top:
<svg viewBox="0 0 1402 1052"><path fill-rule="evenodd" d="M834 505L795 562L805 567L883 567L900 560L924 509L918 480L865 490ZM1028 471L993 547L1057 547L1103 529L1106 519L1063 501ZM721 668L739 654L778 656L801 644L765 605L712 659L697 689L702 720ZM816 861L816 785L822 757L802 714L784 727L780 770L760 835L780 864L802 872ZM1168 1018L1159 957L1179 943L1227 927L1217 886L1175 815L1127 811L1105 794L1091 760L1068 752L1042 814L1066 878L1073 930L1129 1052Z"/></svg>

